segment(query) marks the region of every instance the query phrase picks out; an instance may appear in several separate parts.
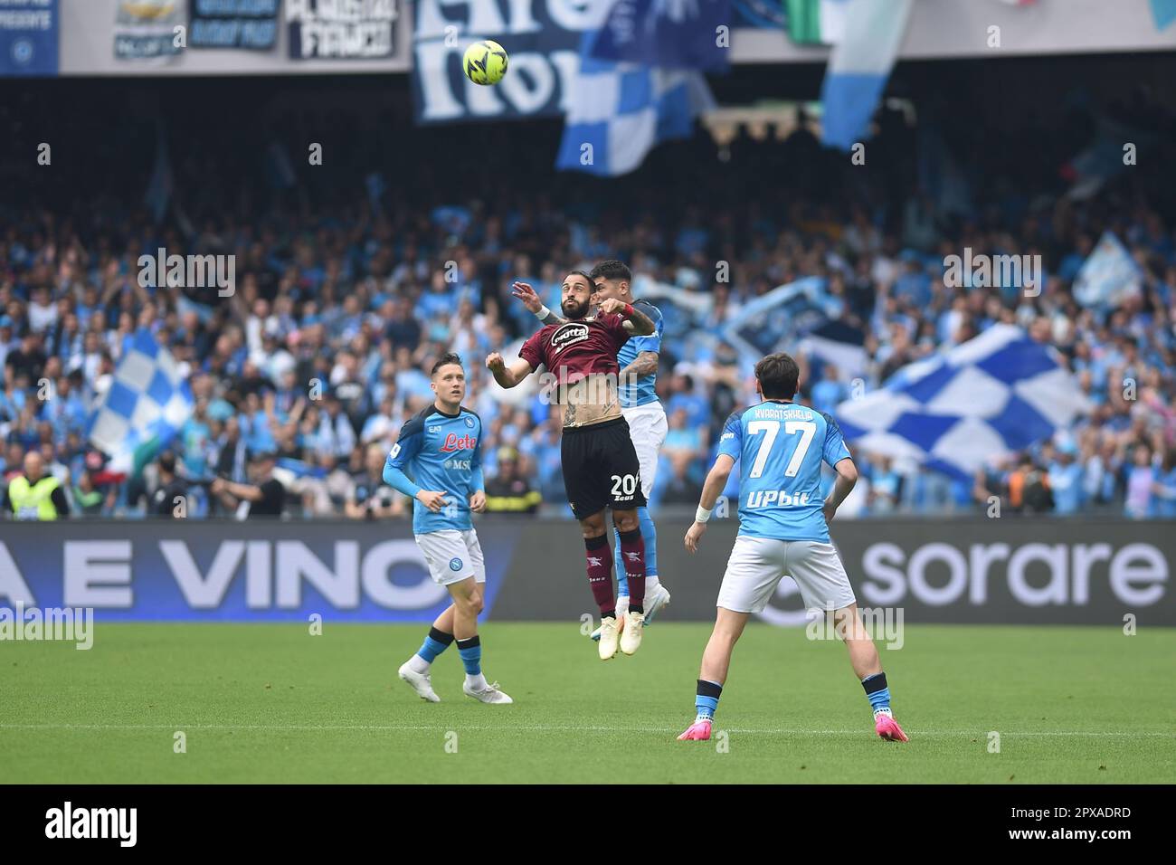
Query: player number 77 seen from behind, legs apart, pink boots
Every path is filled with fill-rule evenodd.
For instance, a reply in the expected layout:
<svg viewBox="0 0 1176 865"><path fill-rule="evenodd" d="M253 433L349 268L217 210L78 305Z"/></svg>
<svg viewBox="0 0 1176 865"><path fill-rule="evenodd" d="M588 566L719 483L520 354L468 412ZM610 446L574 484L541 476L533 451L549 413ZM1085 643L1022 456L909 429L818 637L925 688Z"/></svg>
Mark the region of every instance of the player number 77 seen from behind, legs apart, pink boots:
<svg viewBox="0 0 1176 865"><path fill-rule="evenodd" d="M836 633L874 710L874 728L883 739L907 741L890 713L890 690L874 641L857 614L857 601L841 558L829 543L828 520L857 483L836 421L793 402L800 371L787 354L769 354L755 366L763 401L733 413L719 440L719 457L707 475L686 548L696 552L715 499L735 461L740 468L739 537L719 590L715 630L702 654L696 717L679 739L709 739L711 719L727 680L731 650L751 613L761 612L789 574L809 611L833 613ZM815 447L814 447L815 445ZM821 460L837 472L829 498L821 499Z"/></svg>

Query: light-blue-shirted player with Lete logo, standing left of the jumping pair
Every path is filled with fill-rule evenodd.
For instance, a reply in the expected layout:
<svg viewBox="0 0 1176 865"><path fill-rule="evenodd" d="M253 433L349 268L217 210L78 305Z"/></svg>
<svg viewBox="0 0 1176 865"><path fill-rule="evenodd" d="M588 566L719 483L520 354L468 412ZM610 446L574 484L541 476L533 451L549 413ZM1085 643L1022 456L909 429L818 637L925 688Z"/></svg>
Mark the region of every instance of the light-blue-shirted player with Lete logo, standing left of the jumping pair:
<svg viewBox="0 0 1176 865"><path fill-rule="evenodd" d="M400 667L400 678L422 700L440 703L429 670L434 659L457 640L466 667L462 691L482 703L514 703L482 674L482 612L486 564L470 512L486 510L482 481L482 419L461 405L466 371L461 358L445 354L433 366L436 400L409 418L383 466L383 479L413 503L413 534L429 573L453 598L429 628L416 654ZM406 474L406 472L412 474Z"/></svg>

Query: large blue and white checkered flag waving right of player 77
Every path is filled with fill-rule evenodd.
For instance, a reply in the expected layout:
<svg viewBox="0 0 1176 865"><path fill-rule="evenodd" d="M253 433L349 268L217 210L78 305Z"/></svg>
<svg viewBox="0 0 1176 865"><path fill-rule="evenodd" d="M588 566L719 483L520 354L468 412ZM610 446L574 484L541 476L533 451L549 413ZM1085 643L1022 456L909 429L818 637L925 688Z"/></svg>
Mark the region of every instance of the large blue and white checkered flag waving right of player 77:
<svg viewBox="0 0 1176 865"><path fill-rule="evenodd" d="M971 479L985 463L1068 430L1089 400L1056 352L994 325L837 406L855 448Z"/></svg>

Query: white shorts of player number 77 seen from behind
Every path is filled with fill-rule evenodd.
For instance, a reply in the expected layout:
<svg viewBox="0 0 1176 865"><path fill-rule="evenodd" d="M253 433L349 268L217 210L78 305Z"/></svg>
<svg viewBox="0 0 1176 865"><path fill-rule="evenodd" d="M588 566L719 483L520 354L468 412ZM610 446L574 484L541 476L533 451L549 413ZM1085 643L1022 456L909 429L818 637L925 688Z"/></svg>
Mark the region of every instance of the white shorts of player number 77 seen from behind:
<svg viewBox="0 0 1176 865"><path fill-rule="evenodd" d="M856 603L833 544L741 534L715 605L736 613L762 612L784 575L796 580L806 610L840 610Z"/></svg>

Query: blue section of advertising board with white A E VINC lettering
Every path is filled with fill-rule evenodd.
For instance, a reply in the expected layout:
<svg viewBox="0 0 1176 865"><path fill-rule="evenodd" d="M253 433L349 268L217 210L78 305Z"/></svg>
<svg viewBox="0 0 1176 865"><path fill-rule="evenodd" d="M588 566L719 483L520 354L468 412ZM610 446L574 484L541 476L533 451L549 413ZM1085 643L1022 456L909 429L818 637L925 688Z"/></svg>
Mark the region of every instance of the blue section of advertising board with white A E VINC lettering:
<svg viewBox="0 0 1176 865"><path fill-rule="evenodd" d="M487 614L519 540L482 538ZM98 621L432 621L449 594L407 523L0 523L0 606L16 601Z"/></svg>

